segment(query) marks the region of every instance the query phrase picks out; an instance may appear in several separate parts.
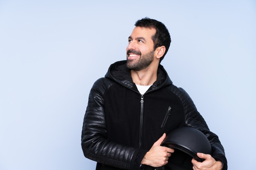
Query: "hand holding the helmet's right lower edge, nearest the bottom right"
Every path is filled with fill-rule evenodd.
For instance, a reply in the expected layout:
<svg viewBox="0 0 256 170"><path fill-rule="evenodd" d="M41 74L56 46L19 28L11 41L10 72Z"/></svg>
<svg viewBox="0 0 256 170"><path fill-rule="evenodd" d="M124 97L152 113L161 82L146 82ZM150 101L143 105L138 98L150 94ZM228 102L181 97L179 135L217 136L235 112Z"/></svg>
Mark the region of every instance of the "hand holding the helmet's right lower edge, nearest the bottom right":
<svg viewBox="0 0 256 170"><path fill-rule="evenodd" d="M204 159L203 162L198 162L195 159L192 159L193 170L221 170L222 162L216 161L211 155L197 153L198 157Z"/></svg>

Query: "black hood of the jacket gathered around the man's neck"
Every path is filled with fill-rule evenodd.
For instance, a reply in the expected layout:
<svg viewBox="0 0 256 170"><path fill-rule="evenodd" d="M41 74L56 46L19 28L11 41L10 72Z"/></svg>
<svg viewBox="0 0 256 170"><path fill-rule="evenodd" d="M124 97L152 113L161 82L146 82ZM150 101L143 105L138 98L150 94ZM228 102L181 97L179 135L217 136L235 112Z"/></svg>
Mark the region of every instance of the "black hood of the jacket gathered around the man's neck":
<svg viewBox="0 0 256 170"><path fill-rule="evenodd" d="M126 60L111 64L110 67L108 68L108 72L106 73L105 77L113 79L115 82L118 82L119 84L122 84L127 88L132 88L135 86L135 84L132 82L130 69L126 67ZM150 87L152 88L151 90L161 88L162 86L168 86L170 84L173 84L173 82L169 78L164 67L159 64L158 70L157 70L157 80Z"/></svg>

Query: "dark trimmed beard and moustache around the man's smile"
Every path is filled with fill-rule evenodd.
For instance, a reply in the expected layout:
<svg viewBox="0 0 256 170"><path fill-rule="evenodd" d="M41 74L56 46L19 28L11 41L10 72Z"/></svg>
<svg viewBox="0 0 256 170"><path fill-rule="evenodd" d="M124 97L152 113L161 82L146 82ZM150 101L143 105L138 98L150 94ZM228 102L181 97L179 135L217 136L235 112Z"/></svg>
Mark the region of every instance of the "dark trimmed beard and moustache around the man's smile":
<svg viewBox="0 0 256 170"><path fill-rule="evenodd" d="M134 54L138 54L140 55L139 59L132 59L132 60L128 60L126 62L126 66L127 68L134 70L134 71L140 71L143 70L145 68L147 68L154 60L154 50L141 55L141 53L139 51L135 51L135 50L128 50L127 51L127 55L128 53L134 53ZM137 60L137 61L135 61Z"/></svg>

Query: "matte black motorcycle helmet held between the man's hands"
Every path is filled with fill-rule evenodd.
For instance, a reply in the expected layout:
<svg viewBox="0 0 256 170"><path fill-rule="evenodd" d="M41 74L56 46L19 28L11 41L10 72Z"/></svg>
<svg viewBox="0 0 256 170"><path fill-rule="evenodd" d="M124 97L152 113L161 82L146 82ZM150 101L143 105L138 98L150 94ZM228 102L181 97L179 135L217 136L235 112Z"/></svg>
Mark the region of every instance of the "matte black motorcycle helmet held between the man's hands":
<svg viewBox="0 0 256 170"><path fill-rule="evenodd" d="M161 146L175 149L166 165L171 170L192 170L192 158L200 162L204 161L196 155L198 152L211 154L211 144L207 137L200 130L192 127L171 131Z"/></svg>

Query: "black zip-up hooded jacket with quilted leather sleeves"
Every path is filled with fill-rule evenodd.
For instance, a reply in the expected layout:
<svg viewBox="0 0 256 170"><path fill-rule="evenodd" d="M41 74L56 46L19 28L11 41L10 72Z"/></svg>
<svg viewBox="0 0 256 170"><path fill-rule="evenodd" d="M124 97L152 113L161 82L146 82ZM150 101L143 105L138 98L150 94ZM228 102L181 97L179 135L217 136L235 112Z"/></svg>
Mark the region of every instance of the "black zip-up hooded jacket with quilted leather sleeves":
<svg viewBox="0 0 256 170"><path fill-rule="evenodd" d="M98 162L96 169L139 170L142 158L164 132L192 126L207 136L212 157L221 160L226 170L227 160L218 136L209 131L189 95L173 85L164 68L159 65L157 81L141 95L125 63L112 64L90 91L82 149L85 157ZM173 109L163 124L169 106Z"/></svg>

